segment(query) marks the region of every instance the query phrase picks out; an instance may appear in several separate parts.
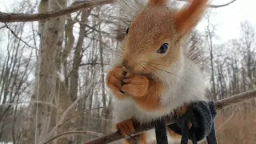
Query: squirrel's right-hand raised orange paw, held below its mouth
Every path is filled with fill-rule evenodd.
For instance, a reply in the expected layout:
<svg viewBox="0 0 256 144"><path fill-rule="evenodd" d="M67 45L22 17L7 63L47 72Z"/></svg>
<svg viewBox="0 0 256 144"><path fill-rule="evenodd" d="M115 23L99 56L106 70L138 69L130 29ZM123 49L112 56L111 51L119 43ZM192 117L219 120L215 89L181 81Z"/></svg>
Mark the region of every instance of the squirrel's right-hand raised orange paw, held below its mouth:
<svg viewBox="0 0 256 144"><path fill-rule="evenodd" d="M149 86L149 80L146 76L137 74L126 74L126 78L122 80L122 91L134 97L143 97Z"/></svg>

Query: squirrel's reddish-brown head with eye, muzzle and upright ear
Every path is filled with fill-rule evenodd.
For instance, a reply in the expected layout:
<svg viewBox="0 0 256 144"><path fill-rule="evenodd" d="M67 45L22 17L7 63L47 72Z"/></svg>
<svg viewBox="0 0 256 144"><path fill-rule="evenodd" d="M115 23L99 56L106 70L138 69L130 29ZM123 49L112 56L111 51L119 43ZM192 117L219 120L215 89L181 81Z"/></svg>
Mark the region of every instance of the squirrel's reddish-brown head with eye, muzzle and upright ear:
<svg viewBox="0 0 256 144"><path fill-rule="evenodd" d="M138 74L166 70L182 56L181 42L202 18L207 0L170 10L166 0L150 0L130 23L122 41L122 66Z"/></svg>

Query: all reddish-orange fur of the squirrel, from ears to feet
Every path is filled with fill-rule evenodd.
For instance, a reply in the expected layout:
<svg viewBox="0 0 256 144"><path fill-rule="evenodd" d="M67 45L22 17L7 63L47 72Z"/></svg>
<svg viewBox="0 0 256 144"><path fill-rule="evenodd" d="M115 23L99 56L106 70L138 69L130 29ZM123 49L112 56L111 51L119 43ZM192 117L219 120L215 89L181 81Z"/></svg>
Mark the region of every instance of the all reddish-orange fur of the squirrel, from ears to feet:
<svg viewBox="0 0 256 144"><path fill-rule="evenodd" d="M129 34L123 41L122 64L126 66L128 75L122 75L122 66L117 66L106 76L107 86L114 92L114 96L122 99L130 94L134 102L142 110L161 110L160 97L164 86L158 80L158 70L143 66L148 63L161 64L158 69L164 70L167 66L180 58L181 38L196 26L206 8L206 0L193 0L190 6L176 13L166 7L165 0L150 0L148 8L134 18L130 24ZM166 54L157 54L156 51L163 43L169 43ZM146 75L150 74L150 77ZM122 81L125 84L122 86ZM127 94L122 94L120 90ZM181 115L186 112L186 105L176 110ZM190 124L189 124L190 125ZM119 122L119 130L125 136L133 131L131 120ZM168 129L171 138L177 134ZM146 136L141 135L142 142L146 143Z"/></svg>

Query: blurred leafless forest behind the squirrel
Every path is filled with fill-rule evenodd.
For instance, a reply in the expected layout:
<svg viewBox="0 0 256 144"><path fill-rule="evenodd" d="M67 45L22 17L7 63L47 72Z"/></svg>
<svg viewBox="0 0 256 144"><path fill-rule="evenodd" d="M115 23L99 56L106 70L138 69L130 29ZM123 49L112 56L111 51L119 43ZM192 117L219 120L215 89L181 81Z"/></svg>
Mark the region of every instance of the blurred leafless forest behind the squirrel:
<svg viewBox="0 0 256 144"><path fill-rule="evenodd" d="M81 2L21 0L8 12L44 13ZM243 21L240 38L216 42L210 11L190 45L202 52L198 64L209 81L209 98L254 90L255 26ZM114 101L105 77L122 38L116 32L126 30L115 15L107 4L41 22L0 23L0 142L40 143L76 131L54 142L80 144L113 130ZM218 112L215 122L218 143L256 143L255 99Z"/></svg>

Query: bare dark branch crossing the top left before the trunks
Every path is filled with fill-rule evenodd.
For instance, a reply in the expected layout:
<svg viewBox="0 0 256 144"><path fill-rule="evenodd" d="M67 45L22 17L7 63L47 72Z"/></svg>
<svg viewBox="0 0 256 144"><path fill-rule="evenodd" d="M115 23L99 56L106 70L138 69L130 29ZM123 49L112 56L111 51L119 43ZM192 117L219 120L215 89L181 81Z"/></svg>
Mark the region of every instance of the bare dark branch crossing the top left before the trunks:
<svg viewBox="0 0 256 144"><path fill-rule="evenodd" d="M52 11L41 14L10 14L3 13L0 11L0 22L33 22L33 21L42 21L50 18L57 18L62 15L71 14L78 10L82 10L85 8L90 8L94 6L102 6L106 4L110 4L114 2L114 0L97 0L97 1L87 1L82 2L78 5L70 6L66 9Z"/></svg>

